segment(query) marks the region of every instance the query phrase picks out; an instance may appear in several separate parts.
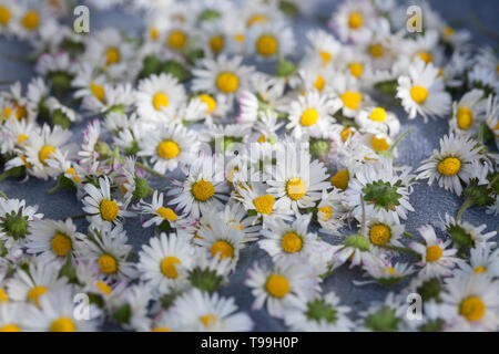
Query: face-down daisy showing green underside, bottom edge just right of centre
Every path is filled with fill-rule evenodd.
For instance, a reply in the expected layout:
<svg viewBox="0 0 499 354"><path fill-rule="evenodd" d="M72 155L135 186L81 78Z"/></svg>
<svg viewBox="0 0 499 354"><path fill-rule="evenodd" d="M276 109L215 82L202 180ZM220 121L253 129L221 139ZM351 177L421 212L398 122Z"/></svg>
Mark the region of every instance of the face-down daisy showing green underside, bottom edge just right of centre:
<svg viewBox="0 0 499 354"><path fill-rule="evenodd" d="M284 321L292 331L349 332L354 330L354 323L348 319L350 310L340 305L339 298L330 291L306 302L293 298L285 310Z"/></svg>

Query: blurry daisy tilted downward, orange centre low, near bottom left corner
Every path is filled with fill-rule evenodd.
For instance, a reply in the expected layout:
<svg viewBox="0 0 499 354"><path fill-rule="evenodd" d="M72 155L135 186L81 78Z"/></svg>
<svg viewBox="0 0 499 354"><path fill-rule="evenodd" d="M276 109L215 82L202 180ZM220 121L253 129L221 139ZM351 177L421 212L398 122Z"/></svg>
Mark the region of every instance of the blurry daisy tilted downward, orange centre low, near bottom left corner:
<svg viewBox="0 0 499 354"><path fill-rule="evenodd" d="M40 306L40 300L50 291L65 287L67 278L59 278L60 263L31 258L26 270L18 268L6 282L9 300L29 301Z"/></svg>

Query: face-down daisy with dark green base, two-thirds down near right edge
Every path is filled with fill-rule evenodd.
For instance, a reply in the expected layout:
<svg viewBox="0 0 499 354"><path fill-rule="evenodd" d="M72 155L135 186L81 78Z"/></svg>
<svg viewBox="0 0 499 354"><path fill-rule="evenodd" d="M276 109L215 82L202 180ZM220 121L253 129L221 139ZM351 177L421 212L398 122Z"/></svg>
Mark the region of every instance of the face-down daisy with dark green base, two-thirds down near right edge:
<svg viewBox="0 0 499 354"><path fill-rule="evenodd" d="M446 212L445 222L441 222L440 229L450 235L456 248L485 247L487 243L490 243L492 247L496 246L496 242L490 239L497 235L497 231L482 233L487 229L487 225L485 223L475 227L469 222L456 220Z"/></svg>

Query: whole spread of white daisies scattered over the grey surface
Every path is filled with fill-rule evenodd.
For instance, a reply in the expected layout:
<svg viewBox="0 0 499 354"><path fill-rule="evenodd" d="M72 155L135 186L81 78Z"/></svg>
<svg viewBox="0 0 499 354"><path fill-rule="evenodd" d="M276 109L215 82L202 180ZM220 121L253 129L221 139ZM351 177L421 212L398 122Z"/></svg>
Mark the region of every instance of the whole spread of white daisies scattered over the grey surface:
<svg viewBox="0 0 499 354"><path fill-rule="evenodd" d="M83 212L51 220L2 194L0 331L251 331L224 288L256 252L252 311L292 331L499 330L497 232L461 218L499 214L493 50L426 3L408 33L405 6L343 1L303 51L308 1L85 3L141 11L140 35L77 34L63 0L0 0L0 33L37 73L0 93L0 179L52 179ZM397 110L449 123L420 166L396 163ZM410 235L426 181L462 207ZM125 221L154 230L135 252ZM358 311L322 289L339 268L405 287Z"/></svg>

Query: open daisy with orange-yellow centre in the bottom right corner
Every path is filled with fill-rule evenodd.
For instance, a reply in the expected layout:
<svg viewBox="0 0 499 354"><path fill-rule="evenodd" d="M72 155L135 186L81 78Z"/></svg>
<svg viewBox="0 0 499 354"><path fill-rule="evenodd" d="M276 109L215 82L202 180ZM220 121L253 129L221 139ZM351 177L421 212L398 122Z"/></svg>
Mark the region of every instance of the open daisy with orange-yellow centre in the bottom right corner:
<svg viewBox="0 0 499 354"><path fill-rule="evenodd" d="M497 331L499 329L499 287L485 274L459 275L446 280L444 303L451 305L455 331Z"/></svg>

